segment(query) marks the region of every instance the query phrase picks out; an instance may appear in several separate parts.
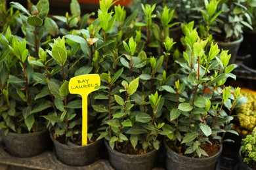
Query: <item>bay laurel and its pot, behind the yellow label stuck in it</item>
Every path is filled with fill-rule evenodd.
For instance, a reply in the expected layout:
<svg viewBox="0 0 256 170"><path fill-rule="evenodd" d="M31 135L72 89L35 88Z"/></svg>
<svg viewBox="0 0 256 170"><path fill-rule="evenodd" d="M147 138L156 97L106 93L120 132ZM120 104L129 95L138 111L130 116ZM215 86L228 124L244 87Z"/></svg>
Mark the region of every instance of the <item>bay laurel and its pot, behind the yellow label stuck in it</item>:
<svg viewBox="0 0 256 170"><path fill-rule="evenodd" d="M78 26L79 18L76 17L80 16L80 13L77 13L77 8L79 9L79 3L73 0L70 4L73 17L71 19L67 15L66 19L72 20L75 24L68 23L68 29L60 28L59 33L64 36L50 42L49 49L41 49L43 55L32 62L45 70L36 77L42 80L41 84L45 84L45 91L41 94L53 99L52 111L43 118L48 121L47 127L51 133L56 156L66 165L84 166L100 158L102 142L97 140L98 120L89 114L88 143L82 145L82 98L68 90L70 78L87 75L93 71L93 54L89 43L91 41L86 40L86 37L90 37L89 28L84 29L86 24L83 23L85 25L79 29L81 25ZM60 16L54 18L62 20ZM83 107L90 105L91 99L89 105Z"/></svg>

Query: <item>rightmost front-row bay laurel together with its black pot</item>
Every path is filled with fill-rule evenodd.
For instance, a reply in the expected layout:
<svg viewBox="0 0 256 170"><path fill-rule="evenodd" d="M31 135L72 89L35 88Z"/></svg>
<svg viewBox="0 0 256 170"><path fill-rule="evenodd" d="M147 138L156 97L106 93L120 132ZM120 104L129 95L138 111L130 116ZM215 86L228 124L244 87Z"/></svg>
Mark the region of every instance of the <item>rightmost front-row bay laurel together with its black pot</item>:
<svg viewBox="0 0 256 170"><path fill-rule="evenodd" d="M198 36L194 22L182 25L185 49L173 74L173 86L165 87L169 92L165 106L169 110L166 118L168 129L164 141L167 150L167 169L215 169L221 154L225 133L232 130L232 110L244 103L240 88L225 86L235 65L228 65L230 54L220 50L207 39ZM184 163L186 162L186 163Z"/></svg>

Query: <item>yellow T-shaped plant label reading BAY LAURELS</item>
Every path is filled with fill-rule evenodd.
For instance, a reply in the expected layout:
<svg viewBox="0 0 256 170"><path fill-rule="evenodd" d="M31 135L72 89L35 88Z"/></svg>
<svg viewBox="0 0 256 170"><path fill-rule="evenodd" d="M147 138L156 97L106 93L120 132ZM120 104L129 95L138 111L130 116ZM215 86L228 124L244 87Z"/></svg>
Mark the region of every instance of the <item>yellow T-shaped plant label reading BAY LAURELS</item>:
<svg viewBox="0 0 256 170"><path fill-rule="evenodd" d="M87 145L87 97L100 86L100 76L97 74L75 76L70 79L68 90L70 93L82 97L82 145Z"/></svg>

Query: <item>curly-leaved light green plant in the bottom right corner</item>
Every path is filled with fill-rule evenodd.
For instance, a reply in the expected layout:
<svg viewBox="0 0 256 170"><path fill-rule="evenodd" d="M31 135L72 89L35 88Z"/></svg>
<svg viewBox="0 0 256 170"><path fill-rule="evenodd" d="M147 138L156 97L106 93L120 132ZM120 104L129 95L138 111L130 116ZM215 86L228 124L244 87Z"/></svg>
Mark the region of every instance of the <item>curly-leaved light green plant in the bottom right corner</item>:
<svg viewBox="0 0 256 170"><path fill-rule="evenodd" d="M256 127L254 127L251 134L246 135L242 139L240 148L240 168L241 169L255 169L256 168Z"/></svg>

